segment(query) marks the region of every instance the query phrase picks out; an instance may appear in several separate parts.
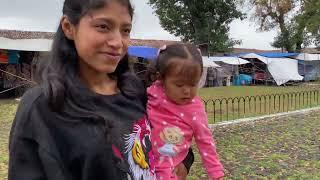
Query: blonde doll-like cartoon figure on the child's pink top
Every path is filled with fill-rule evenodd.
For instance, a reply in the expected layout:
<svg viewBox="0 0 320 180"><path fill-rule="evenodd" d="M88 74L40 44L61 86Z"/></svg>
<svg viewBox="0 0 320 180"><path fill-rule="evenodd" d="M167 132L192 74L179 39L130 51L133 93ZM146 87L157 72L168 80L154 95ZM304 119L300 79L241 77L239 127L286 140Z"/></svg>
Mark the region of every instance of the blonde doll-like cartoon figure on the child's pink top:
<svg viewBox="0 0 320 180"><path fill-rule="evenodd" d="M173 166L172 157L179 153L177 146L184 142L183 132L176 126L165 127L160 133L160 138L164 142L164 145L158 148L158 152L161 154L159 163L162 163L167 158Z"/></svg>

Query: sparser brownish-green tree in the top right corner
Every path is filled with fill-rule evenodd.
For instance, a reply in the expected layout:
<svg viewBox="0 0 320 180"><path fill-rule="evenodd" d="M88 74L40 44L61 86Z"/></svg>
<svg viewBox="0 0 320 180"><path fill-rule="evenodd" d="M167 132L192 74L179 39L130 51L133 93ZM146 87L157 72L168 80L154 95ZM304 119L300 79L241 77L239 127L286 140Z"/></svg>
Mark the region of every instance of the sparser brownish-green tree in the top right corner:
<svg viewBox="0 0 320 180"><path fill-rule="evenodd" d="M319 0L249 0L255 7L259 30L279 28L272 45L289 52L301 51L312 43L320 46Z"/></svg>

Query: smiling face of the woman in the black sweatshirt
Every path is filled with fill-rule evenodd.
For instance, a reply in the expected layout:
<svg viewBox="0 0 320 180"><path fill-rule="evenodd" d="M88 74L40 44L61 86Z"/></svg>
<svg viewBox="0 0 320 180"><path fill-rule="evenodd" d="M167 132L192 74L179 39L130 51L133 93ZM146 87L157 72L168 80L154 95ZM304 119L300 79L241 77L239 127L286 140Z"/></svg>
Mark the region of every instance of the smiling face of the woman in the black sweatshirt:
<svg viewBox="0 0 320 180"><path fill-rule="evenodd" d="M80 68L85 65L97 73L114 72L127 53L131 21L127 7L116 1L83 16L73 33Z"/></svg>

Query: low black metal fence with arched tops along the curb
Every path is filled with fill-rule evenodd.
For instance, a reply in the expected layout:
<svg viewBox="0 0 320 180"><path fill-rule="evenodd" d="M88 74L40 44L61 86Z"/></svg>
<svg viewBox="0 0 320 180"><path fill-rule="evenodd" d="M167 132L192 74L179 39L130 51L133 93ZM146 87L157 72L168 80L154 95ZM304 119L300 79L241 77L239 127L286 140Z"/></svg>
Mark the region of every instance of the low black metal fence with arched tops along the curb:
<svg viewBox="0 0 320 180"><path fill-rule="evenodd" d="M320 91L203 100L209 122L288 112L319 105Z"/></svg>

